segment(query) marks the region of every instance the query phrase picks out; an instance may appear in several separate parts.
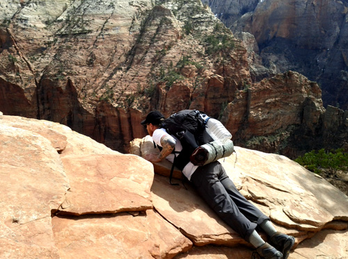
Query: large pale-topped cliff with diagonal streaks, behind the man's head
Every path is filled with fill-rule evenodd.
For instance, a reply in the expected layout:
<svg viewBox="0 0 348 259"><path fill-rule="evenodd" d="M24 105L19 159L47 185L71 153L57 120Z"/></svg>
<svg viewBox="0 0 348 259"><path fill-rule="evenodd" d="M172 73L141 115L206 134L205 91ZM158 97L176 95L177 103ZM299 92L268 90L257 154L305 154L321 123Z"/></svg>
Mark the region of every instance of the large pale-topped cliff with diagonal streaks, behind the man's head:
<svg viewBox="0 0 348 259"><path fill-rule="evenodd" d="M119 151L143 137L148 110L170 115L193 102L218 116L249 80L245 50L198 1L0 8L0 110L68 125ZM209 46L212 34L219 40Z"/></svg>

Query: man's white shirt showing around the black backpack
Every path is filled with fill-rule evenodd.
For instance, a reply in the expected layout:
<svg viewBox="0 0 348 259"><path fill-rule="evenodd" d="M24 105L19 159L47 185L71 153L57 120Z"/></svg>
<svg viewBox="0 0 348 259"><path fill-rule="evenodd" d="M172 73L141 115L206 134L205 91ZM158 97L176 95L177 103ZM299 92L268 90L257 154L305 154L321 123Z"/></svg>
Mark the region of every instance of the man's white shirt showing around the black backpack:
<svg viewBox="0 0 348 259"><path fill-rule="evenodd" d="M182 151L182 145L180 143L180 140L178 140L175 136L168 134L164 128L157 128L152 134L152 140L157 145L159 145L159 147L162 147L161 146L161 137L163 137L164 135L168 135L168 136L171 136L174 138L175 151ZM173 162L174 158L175 158L175 155L173 153L171 153L166 157L166 160ZM182 174L184 174L184 176L186 176L189 180L191 180L191 176L196 171L197 168L198 168L197 165L193 165L191 162L189 162L184 167L184 169L182 169Z"/></svg>

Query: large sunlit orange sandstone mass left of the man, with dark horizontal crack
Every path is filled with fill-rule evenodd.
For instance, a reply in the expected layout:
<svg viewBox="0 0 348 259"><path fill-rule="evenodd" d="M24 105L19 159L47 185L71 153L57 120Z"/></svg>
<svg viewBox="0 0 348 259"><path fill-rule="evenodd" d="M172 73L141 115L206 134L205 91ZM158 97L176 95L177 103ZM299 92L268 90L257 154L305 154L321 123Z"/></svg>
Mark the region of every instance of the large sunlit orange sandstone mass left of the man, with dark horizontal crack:
<svg viewBox="0 0 348 259"><path fill-rule="evenodd" d="M0 122L1 258L173 258L191 247L152 210L150 162L61 124Z"/></svg>

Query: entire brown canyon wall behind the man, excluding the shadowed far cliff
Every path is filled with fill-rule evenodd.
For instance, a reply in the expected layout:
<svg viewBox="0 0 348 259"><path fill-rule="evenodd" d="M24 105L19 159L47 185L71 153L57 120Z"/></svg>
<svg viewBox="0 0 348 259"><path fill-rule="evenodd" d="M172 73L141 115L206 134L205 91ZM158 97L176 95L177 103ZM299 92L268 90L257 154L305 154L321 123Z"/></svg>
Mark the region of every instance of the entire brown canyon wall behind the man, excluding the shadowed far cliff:
<svg viewBox="0 0 348 259"><path fill-rule="evenodd" d="M121 152L145 136L148 111L187 108L221 119L241 147L290 158L348 149L347 109L324 108L326 90L310 76L262 65L251 34L241 35L200 1L0 3L0 111Z"/></svg>

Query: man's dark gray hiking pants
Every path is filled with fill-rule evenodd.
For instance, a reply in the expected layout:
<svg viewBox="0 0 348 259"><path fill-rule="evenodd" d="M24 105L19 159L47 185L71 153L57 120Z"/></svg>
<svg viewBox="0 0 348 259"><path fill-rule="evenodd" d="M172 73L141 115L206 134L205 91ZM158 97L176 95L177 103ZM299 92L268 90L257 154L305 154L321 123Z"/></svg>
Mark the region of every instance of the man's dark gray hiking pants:
<svg viewBox="0 0 348 259"><path fill-rule="evenodd" d="M269 219L244 198L219 162L198 167L191 182L219 217L247 242L255 228Z"/></svg>

